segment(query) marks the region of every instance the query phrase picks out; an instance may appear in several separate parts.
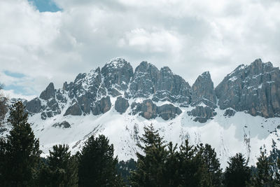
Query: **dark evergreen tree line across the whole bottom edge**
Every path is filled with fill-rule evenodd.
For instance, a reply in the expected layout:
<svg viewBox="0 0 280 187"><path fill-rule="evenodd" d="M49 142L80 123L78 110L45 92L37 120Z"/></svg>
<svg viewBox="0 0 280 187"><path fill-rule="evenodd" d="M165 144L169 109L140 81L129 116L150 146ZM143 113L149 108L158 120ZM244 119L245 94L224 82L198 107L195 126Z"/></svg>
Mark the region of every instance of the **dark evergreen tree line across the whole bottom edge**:
<svg viewBox="0 0 280 187"><path fill-rule="evenodd" d="M22 102L10 108L10 133L0 138L0 186L280 186L280 151L273 141L269 156L255 166L241 153L221 169L209 144L172 144L153 125L144 127L137 160L118 162L104 135L91 136L71 155L69 146L52 147L41 158L39 141Z"/></svg>

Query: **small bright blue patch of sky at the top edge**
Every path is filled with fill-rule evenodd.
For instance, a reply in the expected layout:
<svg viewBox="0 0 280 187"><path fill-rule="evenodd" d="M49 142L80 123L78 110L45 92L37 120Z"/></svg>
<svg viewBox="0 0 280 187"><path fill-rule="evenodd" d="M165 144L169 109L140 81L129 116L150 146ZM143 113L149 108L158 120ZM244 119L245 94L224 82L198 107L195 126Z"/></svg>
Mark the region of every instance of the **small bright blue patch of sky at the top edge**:
<svg viewBox="0 0 280 187"><path fill-rule="evenodd" d="M31 4L34 4L40 12L52 12L62 11L53 0L28 0Z"/></svg>

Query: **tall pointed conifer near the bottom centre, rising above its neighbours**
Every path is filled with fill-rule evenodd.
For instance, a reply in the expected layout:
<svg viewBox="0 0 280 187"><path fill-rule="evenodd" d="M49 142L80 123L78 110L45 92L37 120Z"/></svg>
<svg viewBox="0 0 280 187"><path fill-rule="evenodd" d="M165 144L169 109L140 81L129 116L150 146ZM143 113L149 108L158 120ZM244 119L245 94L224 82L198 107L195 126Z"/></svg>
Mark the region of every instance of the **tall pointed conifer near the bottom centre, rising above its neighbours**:
<svg viewBox="0 0 280 187"><path fill-rule="evenodd" d="M137 153L137 170L132 173L132 186L166 186L163 174L165 172L165 160L167 151L163 138L153 125L144 127L143 137L140 138L144 144L138 144L144 155Z"/></svg>

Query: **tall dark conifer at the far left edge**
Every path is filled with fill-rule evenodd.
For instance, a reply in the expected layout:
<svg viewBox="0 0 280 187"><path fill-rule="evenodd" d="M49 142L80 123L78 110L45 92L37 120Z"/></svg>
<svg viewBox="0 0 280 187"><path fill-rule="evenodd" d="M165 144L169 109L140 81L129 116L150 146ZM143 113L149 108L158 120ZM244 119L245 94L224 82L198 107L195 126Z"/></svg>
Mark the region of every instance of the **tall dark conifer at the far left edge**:
<svg viewBox="0 0 280 187"><path fill-rule="evenodd" d="M6 140L1 140L1 186L34 186L36 166L41 151L35 139L22 102L10 108L8 123L12 126Z"/></svg>

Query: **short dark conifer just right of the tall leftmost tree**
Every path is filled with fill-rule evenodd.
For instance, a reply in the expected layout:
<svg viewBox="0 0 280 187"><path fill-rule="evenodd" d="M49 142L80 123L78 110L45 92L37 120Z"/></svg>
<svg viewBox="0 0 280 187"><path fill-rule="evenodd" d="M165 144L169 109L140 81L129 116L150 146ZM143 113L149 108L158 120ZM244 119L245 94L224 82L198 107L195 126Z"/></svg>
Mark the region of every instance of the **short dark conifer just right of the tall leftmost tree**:
<svg viewBox="0 0 280 187"><path fill-rule="evenodd" d="M78 186L78 165L71 156L69 146L55 145L50 151L46 165L41 167L40 186Z"/></svg>

